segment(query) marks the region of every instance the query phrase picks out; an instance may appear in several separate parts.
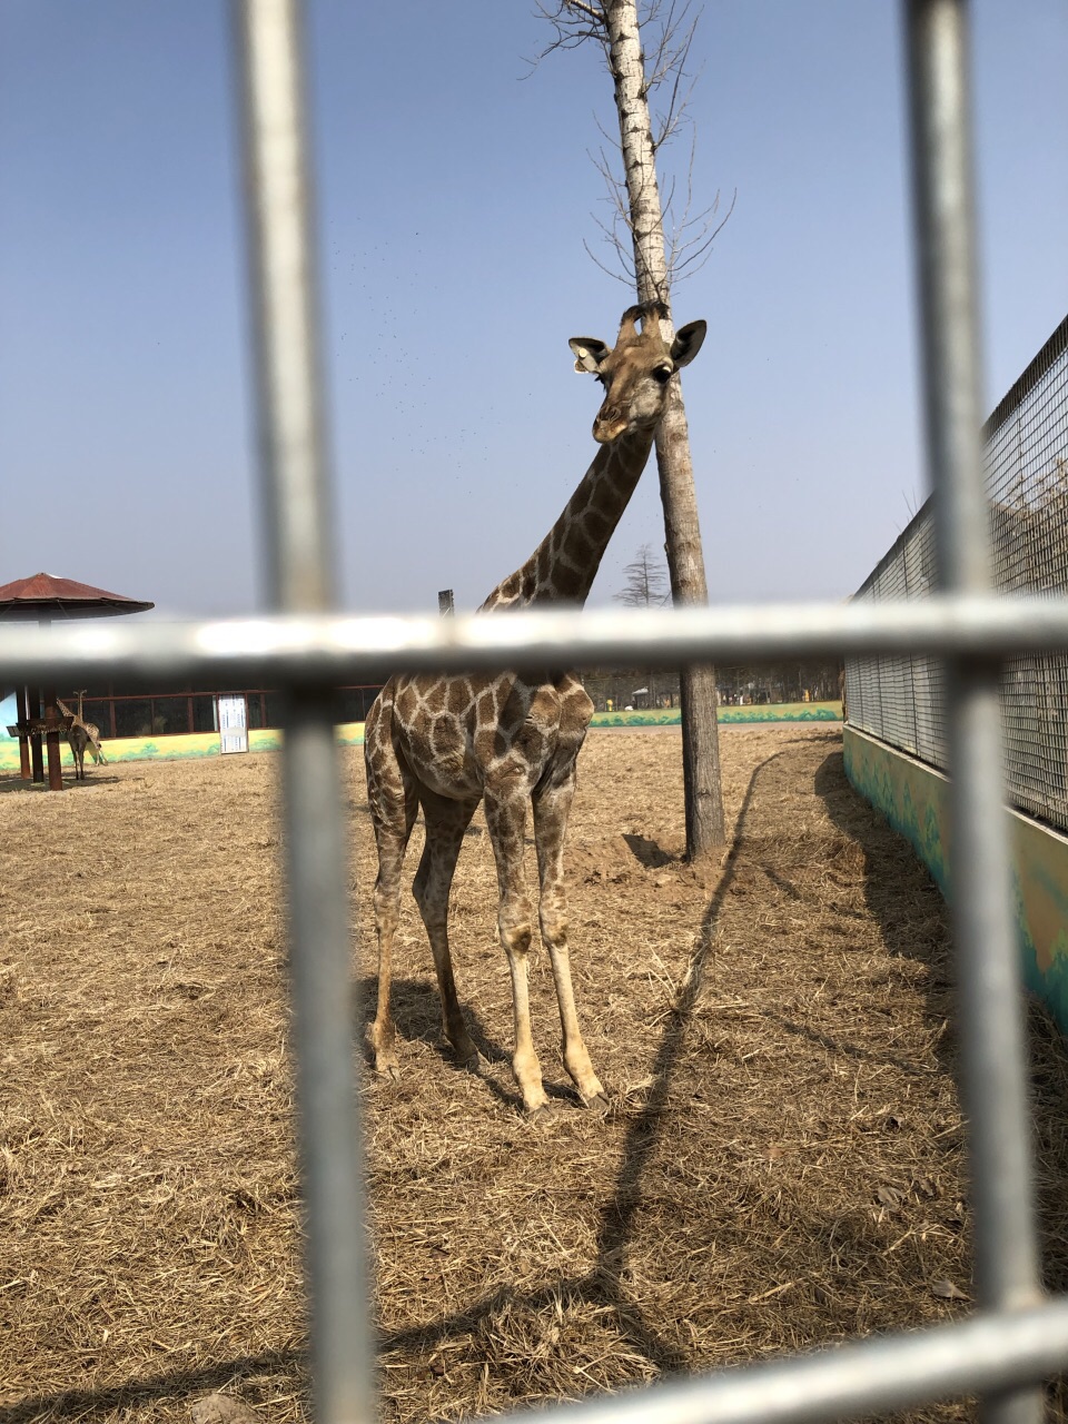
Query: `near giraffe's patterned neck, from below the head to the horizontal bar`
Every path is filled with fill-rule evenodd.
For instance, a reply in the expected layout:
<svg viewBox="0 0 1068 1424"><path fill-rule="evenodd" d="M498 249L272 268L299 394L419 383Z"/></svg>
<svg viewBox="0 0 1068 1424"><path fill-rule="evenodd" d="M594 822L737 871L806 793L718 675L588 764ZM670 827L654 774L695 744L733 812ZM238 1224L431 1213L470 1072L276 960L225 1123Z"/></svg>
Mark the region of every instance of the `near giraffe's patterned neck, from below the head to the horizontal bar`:
<svg viewBox="0 0 1068 1424"><path fill-rule="evenodd" d="M491 608L570 604L590 597L604 551L622 518L652 449L652 430L634 430L601 446L564 511L525 564L483 602Z"/></svg>

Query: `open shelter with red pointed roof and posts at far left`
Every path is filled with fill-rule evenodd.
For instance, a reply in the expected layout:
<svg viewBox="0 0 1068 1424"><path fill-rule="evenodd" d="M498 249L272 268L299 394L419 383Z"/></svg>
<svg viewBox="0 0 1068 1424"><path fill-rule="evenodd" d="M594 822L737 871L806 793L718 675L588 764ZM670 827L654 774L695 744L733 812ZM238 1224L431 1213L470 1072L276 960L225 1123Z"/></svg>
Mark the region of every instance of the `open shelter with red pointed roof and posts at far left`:
<svg viewBox="0 0 1068 1424"><path fill-rule="evenodd" d="M73 578L33 574L11 584L0 584L0 622L36 619L41 625L68 618L111 618L140 614L155 604L105 588L93 588ZM60 732L64 721L56 705L56 688L16 688L19 753L24 780L44 780L41 740L48 752L48 790L63 790Z"/></svg>

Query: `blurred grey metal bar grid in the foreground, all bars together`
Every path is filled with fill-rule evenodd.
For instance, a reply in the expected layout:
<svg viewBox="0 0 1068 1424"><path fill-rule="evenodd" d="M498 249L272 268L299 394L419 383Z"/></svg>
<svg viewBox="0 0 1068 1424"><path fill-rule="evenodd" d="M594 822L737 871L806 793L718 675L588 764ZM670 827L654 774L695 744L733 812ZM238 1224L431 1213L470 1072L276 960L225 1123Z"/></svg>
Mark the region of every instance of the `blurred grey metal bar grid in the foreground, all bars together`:
<svg viewBox="0 0 1068 1424"><path fill-rule="evenodd" d="M329 530L296 0L234 0L244 84L262 488L273 617L184 629L0 629L10 681L256 669L289 691L285 815L315 1408L375 1418L362 1151L353 1091L345 826L330 688L397 669L641 656L927 652L948 668L953 877L963 1095L970 1116L978 1314L910 1334L723 1370L557 1410L641 1418L800 1421L980 1393L997 1424L1037 1421L1038 1381L1068 1361L1068 1300L1042 1303L1028 1156L1021 1000L1004 844L997 684L1020 649L1068 646L1068 601L990 597L964 0L904 0L928 454L946 592L923 605L674 614L360 619L329 612Z"/></svg>

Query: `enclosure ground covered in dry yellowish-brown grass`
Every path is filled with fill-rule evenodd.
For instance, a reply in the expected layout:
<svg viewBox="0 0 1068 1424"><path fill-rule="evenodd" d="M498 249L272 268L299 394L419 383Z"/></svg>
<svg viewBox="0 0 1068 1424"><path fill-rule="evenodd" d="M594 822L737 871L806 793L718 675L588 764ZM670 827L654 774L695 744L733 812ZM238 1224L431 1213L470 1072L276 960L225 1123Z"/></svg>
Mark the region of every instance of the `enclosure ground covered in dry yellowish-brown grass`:
<svg viewBox="0 0 1068 1424"><path fill-rule="evenodd" d="M386 1418L968 1309L937 891L846 786L836 731L722 746L733 839L702 873L678 859L676 733L594 733L582 755L572 940L607 1118L567 1087L541 957L535 1034L561 1106L544 1124L517 1111L480 822L453 943L481 1077L439 1045L406 904L402 1079L363 1069ZM369 928L370 827L345 755ZM108 766L64 796L0 782L3 1424L188 1420L218 1388L278 1424L306 1414L276 770ZM373 974L365 937L357 980ZM1034 1030L1061 1287L1068 1069L1040 1015Z"/></svg>

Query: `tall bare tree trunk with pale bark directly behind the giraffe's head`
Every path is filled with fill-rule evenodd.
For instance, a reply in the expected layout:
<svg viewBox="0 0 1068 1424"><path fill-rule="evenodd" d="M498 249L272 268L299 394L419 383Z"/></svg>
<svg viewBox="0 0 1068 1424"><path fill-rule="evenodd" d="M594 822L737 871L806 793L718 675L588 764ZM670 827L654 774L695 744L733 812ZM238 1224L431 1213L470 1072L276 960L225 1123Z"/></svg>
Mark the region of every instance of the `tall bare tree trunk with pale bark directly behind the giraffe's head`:
<svg viewBox="0 0 1068 1424"><path fill-rule="evenodd" d="M615 81L638 300L669 299L664 211L645 84L637 0L607 0L608 64ZM671 326L671 323L665 323ZM672 330L665 330L671 340ZM675 604L706 604L693 464L679 379L656 434L656 466L666 533L668 571ZM725 840L719 773L715 669L682 669L682 775L686 797L686 857L693 860Z"/></svg>

